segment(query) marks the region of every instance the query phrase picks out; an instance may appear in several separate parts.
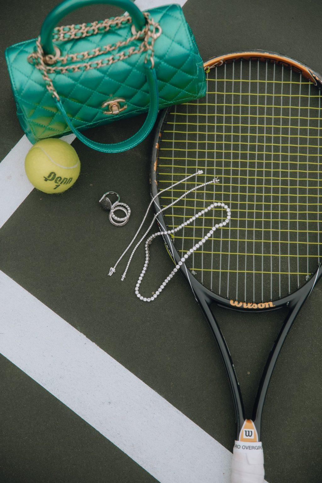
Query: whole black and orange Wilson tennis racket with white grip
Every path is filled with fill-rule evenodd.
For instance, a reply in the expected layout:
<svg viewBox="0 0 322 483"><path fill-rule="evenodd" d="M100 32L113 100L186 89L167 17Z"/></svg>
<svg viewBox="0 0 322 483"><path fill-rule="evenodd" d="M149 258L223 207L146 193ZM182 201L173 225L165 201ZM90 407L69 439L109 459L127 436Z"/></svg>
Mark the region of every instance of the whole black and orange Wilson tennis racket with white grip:
<svg viewBox="0 0 322 483"><path fill-rule="evenodd" d="M320 144L322 78L300 62L262 51L210 59L206 98L161 113L151 165L152 196L168 205L216 175L217 185L192 192L157 220L162 231L182 224L207 202L231 208L230 224L214 232L180 271L216 339L236 411L232 482L264 481L261 418L269 381L285 338L322 275ZM219 206L174 236L164 235L174 262L223 219ZM218 220L218 221L217 221ZM220 221L219 221L220 220ZM210 310L216 303L243 312L281 307L288 315L268 356L252 415L246 415L232 358Z"/></svg>

